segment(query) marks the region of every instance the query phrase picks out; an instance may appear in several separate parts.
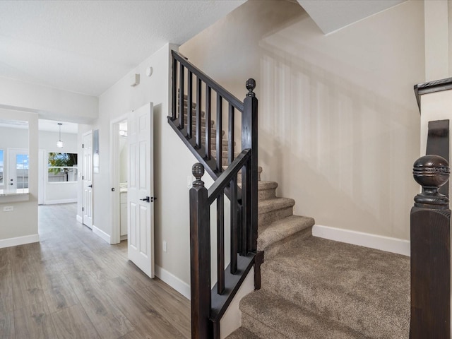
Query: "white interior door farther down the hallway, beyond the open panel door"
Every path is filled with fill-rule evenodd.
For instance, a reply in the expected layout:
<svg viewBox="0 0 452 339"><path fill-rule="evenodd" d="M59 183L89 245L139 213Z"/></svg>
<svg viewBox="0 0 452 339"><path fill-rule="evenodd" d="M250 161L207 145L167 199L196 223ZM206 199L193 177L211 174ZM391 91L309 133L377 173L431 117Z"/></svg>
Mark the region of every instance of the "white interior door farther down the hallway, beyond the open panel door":
<svg viewBox="0 0 452 339"><path fill-rule="evenodd" d="M93 228L93 132L83 134L83 224Z"/></svg>

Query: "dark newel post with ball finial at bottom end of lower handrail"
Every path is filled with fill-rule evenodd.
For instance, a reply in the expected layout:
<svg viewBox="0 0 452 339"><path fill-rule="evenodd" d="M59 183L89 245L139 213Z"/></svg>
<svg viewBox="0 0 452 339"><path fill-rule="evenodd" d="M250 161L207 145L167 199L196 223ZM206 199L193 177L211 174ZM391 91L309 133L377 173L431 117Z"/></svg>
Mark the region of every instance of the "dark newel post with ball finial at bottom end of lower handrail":
<svg viewBox="0 0 452 339"><path fill-rule="evenodd" d="M210 338L210 208L201 180L204 167L191 169L196 180L190 189L191 338Z"/></svg>

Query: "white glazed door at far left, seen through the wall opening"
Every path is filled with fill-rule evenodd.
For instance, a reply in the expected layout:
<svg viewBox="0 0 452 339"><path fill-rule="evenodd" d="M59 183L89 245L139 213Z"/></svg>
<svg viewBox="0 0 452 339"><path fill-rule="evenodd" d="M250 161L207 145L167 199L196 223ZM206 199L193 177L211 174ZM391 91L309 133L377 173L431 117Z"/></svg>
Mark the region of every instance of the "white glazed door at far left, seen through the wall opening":
<svg viewBox="0 0 452 339"><path fill-rule="evenodd" d="M28 189L28 149L8 148L6 189Z"/></svg>

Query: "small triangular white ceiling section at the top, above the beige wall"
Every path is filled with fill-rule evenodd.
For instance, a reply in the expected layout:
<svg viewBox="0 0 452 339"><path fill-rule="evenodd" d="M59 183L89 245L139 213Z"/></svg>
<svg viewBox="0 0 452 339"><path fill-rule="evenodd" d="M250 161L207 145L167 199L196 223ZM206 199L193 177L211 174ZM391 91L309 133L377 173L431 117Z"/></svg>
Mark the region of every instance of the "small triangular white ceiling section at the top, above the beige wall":
<svg viewBox="0 0 452 339"><path fill-rule="evenodd" d="M340 30L406 0L298 0L323 33Z"/></svg>

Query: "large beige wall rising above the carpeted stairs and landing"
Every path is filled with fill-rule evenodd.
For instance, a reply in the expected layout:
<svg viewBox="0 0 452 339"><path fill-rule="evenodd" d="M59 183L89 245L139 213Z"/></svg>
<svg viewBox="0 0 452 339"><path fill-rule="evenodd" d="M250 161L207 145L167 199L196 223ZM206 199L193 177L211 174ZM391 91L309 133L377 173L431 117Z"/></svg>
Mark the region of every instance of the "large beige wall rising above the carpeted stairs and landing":
<svg viewBox="0 0 452 339"><path fill-rule="evenodd" d="M179 49L239 98L255 78L262 179L319 225L409 239L424 4L323 35L298 4L247 1Z"/></svg>

